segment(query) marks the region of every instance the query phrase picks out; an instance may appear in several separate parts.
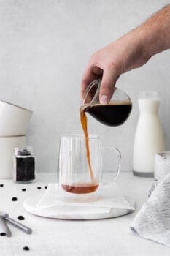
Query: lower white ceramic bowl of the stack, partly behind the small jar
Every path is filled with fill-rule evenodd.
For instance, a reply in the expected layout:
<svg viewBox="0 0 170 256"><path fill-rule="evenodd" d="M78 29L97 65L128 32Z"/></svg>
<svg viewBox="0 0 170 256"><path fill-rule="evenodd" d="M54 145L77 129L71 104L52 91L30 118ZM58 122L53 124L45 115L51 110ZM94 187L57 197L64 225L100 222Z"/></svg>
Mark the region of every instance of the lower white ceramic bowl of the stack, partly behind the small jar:
<svg viewBox="0 0 170 256"><path fill-rule="evenodd" d="M12 178L15 147L26 146L26 136L0 137L0 178Z"/></svg>

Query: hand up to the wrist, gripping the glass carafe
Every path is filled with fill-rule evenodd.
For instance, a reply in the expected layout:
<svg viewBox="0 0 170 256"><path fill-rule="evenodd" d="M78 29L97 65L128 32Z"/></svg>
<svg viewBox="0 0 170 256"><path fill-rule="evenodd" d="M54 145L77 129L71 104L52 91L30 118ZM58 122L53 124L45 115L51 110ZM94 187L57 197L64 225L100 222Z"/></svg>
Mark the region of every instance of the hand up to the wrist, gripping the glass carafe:
<svg viewBox="0 0 170 256"><path fill-rule="evenodd" d="M106 105L113 94L115 83L121 74L141 67L150 56L144 51L138 30L131 31L91 56L82 76L81 94L92 80L101 78L99 99Z"/></svg>

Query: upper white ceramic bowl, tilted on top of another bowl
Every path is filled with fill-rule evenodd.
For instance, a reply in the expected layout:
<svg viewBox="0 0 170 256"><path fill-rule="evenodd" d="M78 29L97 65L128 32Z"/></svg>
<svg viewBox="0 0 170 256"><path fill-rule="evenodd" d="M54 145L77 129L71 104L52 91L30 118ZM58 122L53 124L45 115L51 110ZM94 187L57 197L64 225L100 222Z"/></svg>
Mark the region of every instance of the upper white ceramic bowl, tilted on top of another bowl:
<svg viewBox="0 0 170 256"><path fill-rule="evenodd" d="M0 100L0 136L26 135L32 111Z"/></svg>

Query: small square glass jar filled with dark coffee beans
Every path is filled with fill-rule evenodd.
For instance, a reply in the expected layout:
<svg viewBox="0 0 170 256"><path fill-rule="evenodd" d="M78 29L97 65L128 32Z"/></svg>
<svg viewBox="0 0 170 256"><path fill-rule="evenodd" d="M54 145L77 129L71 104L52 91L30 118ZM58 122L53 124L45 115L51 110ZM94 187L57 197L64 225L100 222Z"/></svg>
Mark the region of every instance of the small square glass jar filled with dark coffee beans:
<svg viewBox="0 0 170 256"><path fill-rule="evenodd" d="M13 181L31 183L36 179L36 161L33 148L26 146L15 148L13 157Z"/></svg>

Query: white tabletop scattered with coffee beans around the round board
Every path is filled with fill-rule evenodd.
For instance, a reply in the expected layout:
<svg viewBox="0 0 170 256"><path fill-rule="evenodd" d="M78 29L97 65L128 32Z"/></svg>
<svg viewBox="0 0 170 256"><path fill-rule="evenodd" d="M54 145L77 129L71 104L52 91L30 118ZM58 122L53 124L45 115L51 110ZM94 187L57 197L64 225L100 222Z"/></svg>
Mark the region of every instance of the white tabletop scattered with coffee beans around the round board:
<svg viewBox="0 0 170 256"><path fill-rule="evenodd" d="M17 219L23 215L22 222L33 229L31 235L9 225L12 237L0 236L0 255L170 255L170 248L148 241L133 233L129 226L137 211L147 200L147 189L153 178L139 178L130 172L120 173L115 181L123 195L136 200L136 211L115 219L101 220L61 220L47 219L29 214L23 209L23 201L32 195L42 195L45 185L55 182L54 173L39 174L33 184L14 184L11 180L0 180L0 211L9 213L9 217ZM42 189L37 189L42 187ZM21 189L26 188L26 192ZM18 197L13 202L12 197ZM23 251L28 246L29 251Z"/></svg>

